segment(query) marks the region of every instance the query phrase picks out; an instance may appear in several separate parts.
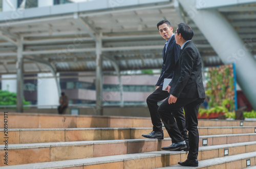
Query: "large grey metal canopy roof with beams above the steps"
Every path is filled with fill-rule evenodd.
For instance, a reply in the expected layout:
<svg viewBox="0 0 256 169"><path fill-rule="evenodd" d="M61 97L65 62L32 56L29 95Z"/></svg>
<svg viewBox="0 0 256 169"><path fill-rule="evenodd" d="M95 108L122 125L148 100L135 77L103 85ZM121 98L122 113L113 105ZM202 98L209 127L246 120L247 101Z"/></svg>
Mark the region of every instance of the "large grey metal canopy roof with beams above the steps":
<svg viewBox="0 0 256 169"><path fill-rule="evenodd" d="M24 73L94 71L96 69L96 34L102 39L102 70L155 69L162 66L164 39L156 24L167 19L174 30L184 20L195 32L204 66L222 64L211 45L173 1L138 4L101 10L69 12L56 15L24 17L0 22L0 74L16 73L17 42L24 46ZM59 5L67 8L67 5ZM70 4L72 5L72 4ZM253 55L256 49L256 4L219 8ZM26 11L26 10L25 10ZM40 11L40 9L39 9ZM4 13L4 12L3 12ZM207 27L207 26L206 26ZM218 30L220 36L224 32ZM210 33L210 32L209 32Z"/></svg>

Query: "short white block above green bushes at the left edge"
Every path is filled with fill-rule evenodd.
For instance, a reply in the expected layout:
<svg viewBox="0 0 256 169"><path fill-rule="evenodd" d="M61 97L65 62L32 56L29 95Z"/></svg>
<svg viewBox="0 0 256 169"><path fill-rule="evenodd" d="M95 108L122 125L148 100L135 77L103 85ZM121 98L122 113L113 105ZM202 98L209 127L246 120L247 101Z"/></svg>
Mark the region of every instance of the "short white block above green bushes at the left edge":
<svg viewBox="0 0 256 169"><path fill-rule="evenodd" d="M2 90L8 90L10 92L17 92L17 75L2 75L2 78L13 78L13 79L7 79L2 80Z"/></svg>

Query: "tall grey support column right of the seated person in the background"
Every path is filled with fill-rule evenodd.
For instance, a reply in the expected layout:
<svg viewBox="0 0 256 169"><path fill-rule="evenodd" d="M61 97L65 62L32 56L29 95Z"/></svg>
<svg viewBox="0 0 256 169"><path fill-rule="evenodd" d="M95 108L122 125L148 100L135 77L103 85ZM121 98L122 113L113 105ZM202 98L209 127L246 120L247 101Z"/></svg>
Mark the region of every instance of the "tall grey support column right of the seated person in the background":
<svg viewBox="0 0 256 169"><path fill-rule="evenodd" d="M102 76L102 56L101 56L101 35L96 41L96 114L103 115L103 76Z"/></svg>

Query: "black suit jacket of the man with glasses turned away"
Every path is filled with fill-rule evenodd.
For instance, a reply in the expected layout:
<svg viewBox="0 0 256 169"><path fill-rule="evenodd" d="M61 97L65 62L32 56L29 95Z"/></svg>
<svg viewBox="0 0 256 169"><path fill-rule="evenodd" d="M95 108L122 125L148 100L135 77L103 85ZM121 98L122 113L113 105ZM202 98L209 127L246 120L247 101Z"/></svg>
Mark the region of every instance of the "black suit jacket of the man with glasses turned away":
<svg viewBox="0 0 256 169"><path fill-rule="evenodd" d="M170 92L177 98L205 99L202 78L202 61L196 45L189 41L180 53L175 65Z"/></svg>

